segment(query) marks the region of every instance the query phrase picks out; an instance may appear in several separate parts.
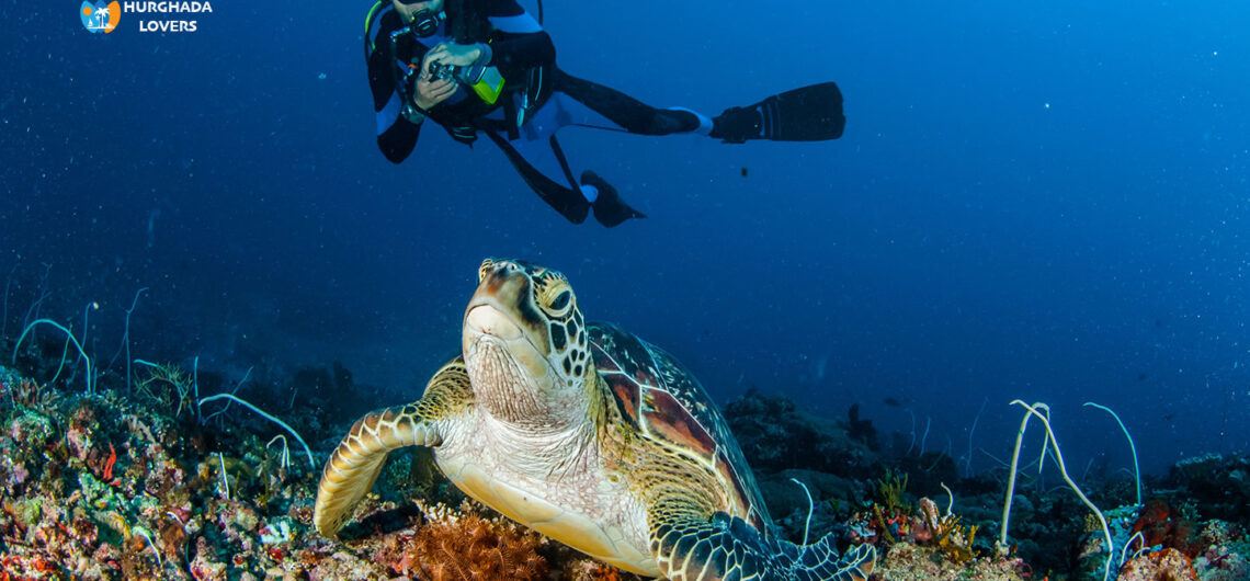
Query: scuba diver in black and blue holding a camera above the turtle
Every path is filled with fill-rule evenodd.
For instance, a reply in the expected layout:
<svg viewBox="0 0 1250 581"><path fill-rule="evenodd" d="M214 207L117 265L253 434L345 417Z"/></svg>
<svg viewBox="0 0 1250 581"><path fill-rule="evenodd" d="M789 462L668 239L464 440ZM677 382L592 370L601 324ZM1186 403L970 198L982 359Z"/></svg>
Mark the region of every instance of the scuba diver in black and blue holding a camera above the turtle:
<svg viewBox="0 0 1250 581"><path fill-rule="evenodd" d="M541 11L541 10L540 10ZM645 217L594 171L574 179L556 141L566 126L725 142L822 141L842 134L842 96L824 82L709 117L658 109L556 67L555 45L516 0L379 0L365 19L378 146L399 164L426 121L472 145L485 135L539 197L581 224Z"/></svg>

